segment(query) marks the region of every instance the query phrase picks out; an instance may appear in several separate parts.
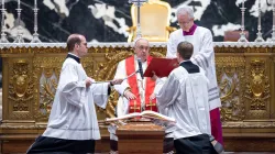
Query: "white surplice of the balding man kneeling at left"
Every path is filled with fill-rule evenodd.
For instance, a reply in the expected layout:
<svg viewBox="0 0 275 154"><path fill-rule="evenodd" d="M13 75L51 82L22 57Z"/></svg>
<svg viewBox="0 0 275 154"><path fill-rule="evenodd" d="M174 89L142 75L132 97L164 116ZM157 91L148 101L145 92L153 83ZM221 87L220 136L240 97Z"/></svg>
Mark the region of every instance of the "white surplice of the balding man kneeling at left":
<svg viewBox="0 0 275 154"><path fill-rule="evenodd" d="M82 65L73 58L63 64L48 124L43 136L65 140L99 140L95 105L106 108L108 84L86 88Z"/></svg>

